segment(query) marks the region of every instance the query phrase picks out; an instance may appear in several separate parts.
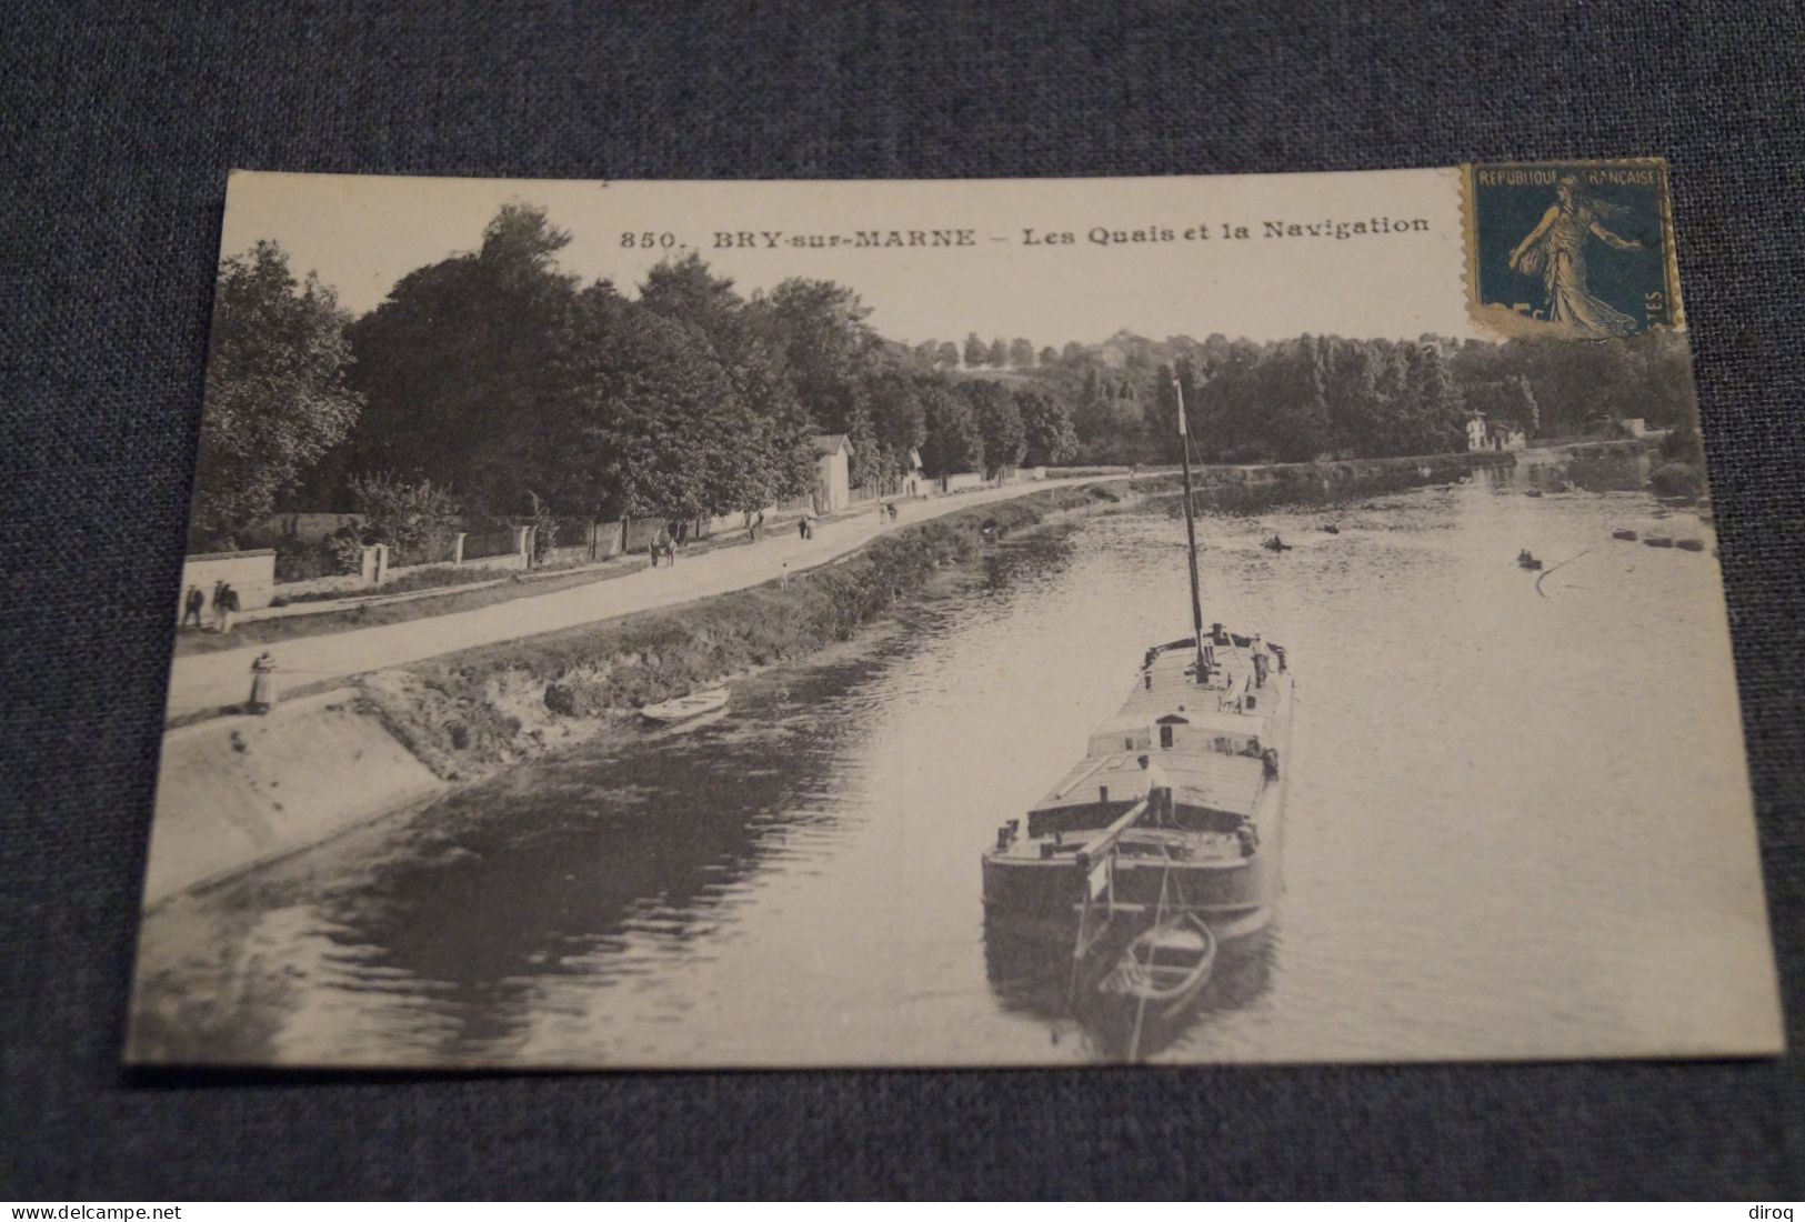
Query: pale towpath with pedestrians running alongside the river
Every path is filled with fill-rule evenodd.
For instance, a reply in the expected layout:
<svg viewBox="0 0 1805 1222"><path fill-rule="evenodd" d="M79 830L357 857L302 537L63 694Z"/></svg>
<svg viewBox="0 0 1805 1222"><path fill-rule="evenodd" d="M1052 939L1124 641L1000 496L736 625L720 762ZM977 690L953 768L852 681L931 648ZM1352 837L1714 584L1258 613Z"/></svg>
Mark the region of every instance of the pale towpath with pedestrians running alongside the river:
<svg viewBox="0 0 1805 1222"><path fill-rule="evenodd" d="M1047 487L1074 487L1119 478L1123 477L1043 480L930 500L897 500L899 520L895 525L888 520L879 522L875 511L866 511L821 523L812 540L798 538L794 525L791 525L787 531L767 534L751 547L727 547L679 558L673 567L644 569L612 581L594 581L428 619L298 637L282 644L188 653L177 657L170 671L170 700L164 715L177 718L242 704L251 688L251 659L264 648L269 648L280 666L276 671L280 695L289 688L316 686L329 679L403 666L478 644L531 637L729 590L744 590L771 581L785 570L805 572L838 560L865 547L874 538L913 522L926 522L971 505L1027 496Z"/></svg>

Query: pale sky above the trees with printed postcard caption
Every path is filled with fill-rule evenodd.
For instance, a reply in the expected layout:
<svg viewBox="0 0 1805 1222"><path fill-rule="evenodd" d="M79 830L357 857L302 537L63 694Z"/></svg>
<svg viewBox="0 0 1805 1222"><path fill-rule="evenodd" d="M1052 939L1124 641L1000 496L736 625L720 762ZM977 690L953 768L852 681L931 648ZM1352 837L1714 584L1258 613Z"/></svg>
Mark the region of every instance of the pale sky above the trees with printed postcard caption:
<svg viewBox="0 0 1805 1222"><path fill-rule="evenodd" d="M363 312L415 267L475 249L511 200L547 208L570 231L560 264L583 280L634 292L661 258L697 251L745 294L789 276L850 285L872 325L908 343L973 330L1036 347L1123 329L1199 339L1478 334L1455 170L908 182L235 171L220 249L274 238L298 274L318 273ZM912 231L928 245L908 245ZM946 245L931 245L937 231ZM877 245L857 245L861 233Z"/></svg>

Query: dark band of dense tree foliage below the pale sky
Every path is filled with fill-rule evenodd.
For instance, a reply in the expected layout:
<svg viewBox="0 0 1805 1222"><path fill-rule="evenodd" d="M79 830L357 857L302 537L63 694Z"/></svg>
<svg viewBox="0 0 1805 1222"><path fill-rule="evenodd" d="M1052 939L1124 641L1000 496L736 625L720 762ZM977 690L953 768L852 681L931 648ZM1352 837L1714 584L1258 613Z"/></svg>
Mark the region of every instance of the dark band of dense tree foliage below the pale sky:
<svg viewBox="0 0 1805 1222"><path fill-rule="evenodd" d="M542 523L756 511L814 487L818 433L845 433L852 482L881 491L912 453L935 478L1166 462L1180 397L1193 457L1215 462L1460 449L1473 412L1534 437L1693 417L1689 357L1670 334L902 345L828 280L745 298L688 255L630 296L561 271L569 242L511 204L475 251L403 276L348 325L274 245L226 260L197 527L229 540L296 487L292 507L375 498L399 520L442 520L453 498L471 518Z"/></svg>

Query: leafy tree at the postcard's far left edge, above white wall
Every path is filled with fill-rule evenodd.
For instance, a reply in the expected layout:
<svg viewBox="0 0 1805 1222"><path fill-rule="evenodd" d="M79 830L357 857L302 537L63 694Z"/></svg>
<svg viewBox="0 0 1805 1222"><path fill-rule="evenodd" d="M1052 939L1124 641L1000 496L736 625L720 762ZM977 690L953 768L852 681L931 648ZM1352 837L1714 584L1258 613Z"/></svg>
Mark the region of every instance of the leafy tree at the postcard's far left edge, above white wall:
<svg viewBox="0 0 1805 1222"><path fill-rule="evenodd" d="M350 431L363 401L345 383L345 321L274 242L220 264L190 516L202 545L233 547Z"/></svg>

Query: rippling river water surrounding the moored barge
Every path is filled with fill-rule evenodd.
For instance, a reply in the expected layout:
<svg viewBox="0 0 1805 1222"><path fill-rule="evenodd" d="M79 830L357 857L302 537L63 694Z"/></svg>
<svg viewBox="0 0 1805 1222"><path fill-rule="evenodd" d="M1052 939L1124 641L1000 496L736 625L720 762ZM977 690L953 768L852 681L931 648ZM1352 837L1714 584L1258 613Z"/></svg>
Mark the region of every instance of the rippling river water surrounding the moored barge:
<svg viewBox="0 0 1805 1222"><path fill-rule="evenodd" d="M1532 466L1200 523L1298 680L1285 895L1153 1060L1738 1051L1769 962L1717 565ZM1339 523L1339 534L1319 529ZM1260 538L1296 547L1274 556ZM1094 1061L978 854L1182 635L1157 507L1007 538L901 623L159 908L135 1047L294 1065ZM1514 563L1545 558L1547 576ZM1574 558L1554 570L1552 565Z"/></svg>

